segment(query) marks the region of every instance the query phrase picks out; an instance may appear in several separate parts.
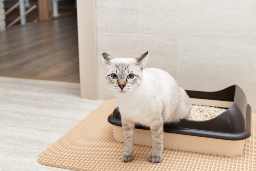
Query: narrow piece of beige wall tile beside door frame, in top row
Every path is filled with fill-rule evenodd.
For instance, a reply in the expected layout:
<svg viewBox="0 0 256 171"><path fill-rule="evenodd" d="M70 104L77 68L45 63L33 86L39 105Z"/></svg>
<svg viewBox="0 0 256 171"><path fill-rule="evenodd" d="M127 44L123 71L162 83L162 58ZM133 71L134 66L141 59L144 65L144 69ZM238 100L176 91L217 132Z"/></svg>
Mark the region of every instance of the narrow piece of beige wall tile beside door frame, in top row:
<svg viewBox="0 0 256 171"><path fill-rule="evenodd" d="M97 0L97 32L139 34L139 0Z"/></svg>

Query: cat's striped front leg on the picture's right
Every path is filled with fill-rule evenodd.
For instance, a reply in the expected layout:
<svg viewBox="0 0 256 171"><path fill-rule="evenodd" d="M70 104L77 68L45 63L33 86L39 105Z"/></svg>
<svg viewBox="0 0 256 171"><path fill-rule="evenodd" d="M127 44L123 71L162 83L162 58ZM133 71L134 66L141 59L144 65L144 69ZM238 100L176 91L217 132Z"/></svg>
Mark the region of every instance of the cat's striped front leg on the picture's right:
<svg viewBox="0 0 256 171"><path fill-rule="evenodd" d="M150 126L152 136L152 154L149 156L149 162L159 163L162 161L162 150L163 150L163 121L155 121Z"/></svg>

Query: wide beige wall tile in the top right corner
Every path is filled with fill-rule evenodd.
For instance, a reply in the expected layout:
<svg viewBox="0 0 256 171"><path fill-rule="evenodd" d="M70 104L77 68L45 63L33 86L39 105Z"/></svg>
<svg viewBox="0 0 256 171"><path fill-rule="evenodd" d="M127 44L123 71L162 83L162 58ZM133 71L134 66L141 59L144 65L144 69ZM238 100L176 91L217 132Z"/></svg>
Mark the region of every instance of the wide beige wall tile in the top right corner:
<svg viewBox="0 0 256 171"><path fill-rule="evenodd" d="M141 0L141 33L256 38L256 1Z"/></svg>

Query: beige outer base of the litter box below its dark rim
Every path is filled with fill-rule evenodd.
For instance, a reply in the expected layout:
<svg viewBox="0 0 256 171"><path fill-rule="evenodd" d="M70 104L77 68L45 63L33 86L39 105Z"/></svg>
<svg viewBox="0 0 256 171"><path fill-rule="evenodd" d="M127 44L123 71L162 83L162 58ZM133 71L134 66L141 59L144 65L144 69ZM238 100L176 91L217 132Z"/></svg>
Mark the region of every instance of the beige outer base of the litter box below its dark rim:
<svg viewBox="0 0 256 171"><path fill-rule="evenodd" d="M113 135L114 139L117 141L124 142L122 127L113 125ZM242 154L244 142L245 139L231 141L164 133L163 146L168 149L196 151L223 156L237 156ZM135 129L133 143L152 146L151 132L149 130Z"/></svg>

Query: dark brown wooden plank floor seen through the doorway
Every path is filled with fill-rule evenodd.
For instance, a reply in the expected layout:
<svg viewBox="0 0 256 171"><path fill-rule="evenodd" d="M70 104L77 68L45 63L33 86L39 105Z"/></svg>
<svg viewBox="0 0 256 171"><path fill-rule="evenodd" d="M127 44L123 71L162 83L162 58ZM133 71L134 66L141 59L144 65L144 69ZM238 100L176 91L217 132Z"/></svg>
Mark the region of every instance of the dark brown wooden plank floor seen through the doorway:
<svg viewBox="0 0 256 171"><path fill-rule="evenodd" d="M76 16L1 32L0 75L79 82Z"/></svg>

